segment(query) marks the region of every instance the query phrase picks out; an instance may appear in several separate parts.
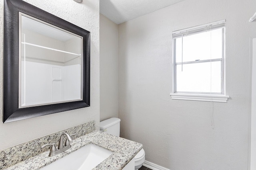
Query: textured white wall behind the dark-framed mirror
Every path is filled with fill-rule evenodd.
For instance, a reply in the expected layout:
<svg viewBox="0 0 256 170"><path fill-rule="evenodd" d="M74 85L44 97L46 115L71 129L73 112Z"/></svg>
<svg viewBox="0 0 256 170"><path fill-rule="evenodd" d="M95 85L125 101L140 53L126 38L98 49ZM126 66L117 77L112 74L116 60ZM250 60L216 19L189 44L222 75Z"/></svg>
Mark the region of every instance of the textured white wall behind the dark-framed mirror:
<svg viewBox="0 0 256 170"><path fill-rule="evenodd" d="M100 120L100 64L99 64L99 0L86 0L76 3L73 0L26 0L51 14L91 32L91 73L90 107L54 113L21 121L0 122L0 150L68 129L95 120L99 129ZM0 0L0 41L3 41L3 0ZM2 94L2 50L0 43L0 96ZM0 98L2 117L2 97Z"/></svg>

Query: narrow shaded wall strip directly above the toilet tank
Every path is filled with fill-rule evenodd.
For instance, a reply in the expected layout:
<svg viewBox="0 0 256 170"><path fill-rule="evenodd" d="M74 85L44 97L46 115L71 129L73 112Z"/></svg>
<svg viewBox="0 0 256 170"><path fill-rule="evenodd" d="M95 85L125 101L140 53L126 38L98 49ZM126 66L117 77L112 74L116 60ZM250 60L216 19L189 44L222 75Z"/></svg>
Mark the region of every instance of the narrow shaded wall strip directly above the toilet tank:
<svg viewBox="0 0 256 170"><path fill-rule="evenodd" d="M100 14L100 121L118 117L118 25Z"/></svg>

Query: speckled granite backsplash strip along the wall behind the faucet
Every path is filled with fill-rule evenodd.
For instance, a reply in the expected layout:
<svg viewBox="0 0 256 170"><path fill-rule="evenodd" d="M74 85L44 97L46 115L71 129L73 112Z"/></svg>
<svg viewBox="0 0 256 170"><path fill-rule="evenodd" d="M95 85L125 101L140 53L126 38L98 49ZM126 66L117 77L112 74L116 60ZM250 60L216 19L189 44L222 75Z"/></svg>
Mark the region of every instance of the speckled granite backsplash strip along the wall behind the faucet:
<svg viewBox="0 0 256 170"><path fill-rule="evenodd" d="M41 149L41 146L46 143L56 143L58 146L58 140L60 134L66 132L68 134L75 134L72 136L73 139L86 135L95 130L95 121L90 121L64 131L60 131L34 141L30 141L15 147L0 151L0 169L4 170L14 164L17 164L24 160L31 160L30 158L37 156L43 152L48 151L48 147ZM32 160L37 161L37 160ZM17 168L20 170L20 168ZM30 168L29 168L30 169ZM32 170L32 169L30 169Z"/></svg>

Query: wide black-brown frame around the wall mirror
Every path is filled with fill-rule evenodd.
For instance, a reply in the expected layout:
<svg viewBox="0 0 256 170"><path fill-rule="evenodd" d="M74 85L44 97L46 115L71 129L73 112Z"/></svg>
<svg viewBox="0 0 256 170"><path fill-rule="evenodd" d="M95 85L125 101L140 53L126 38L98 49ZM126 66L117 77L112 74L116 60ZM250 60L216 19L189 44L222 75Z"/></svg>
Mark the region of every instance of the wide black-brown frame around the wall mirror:
<svg viewBox="0 0 256 170"><path fill-rule="evenodd" d="M63 102L18 108L19 96L19 12L45 21L83 37L82 96L75 102ZM90 32L54 16L23 0L4 0L3 35L3 122L18 121L42 115L90 106Z"/></svg>

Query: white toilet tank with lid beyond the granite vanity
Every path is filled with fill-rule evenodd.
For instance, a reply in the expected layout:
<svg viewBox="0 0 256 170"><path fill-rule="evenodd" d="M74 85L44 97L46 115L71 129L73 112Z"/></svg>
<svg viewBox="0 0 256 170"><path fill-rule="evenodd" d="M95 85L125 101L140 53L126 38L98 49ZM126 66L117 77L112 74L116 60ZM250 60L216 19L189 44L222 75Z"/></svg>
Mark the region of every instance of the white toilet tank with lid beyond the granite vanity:
<svg viewBox="0 0 256 170"><path fill-rule="evenodd" d="M120 136L120 119L112 117L100 122L100 131L111 135Z"/></svg>

